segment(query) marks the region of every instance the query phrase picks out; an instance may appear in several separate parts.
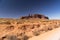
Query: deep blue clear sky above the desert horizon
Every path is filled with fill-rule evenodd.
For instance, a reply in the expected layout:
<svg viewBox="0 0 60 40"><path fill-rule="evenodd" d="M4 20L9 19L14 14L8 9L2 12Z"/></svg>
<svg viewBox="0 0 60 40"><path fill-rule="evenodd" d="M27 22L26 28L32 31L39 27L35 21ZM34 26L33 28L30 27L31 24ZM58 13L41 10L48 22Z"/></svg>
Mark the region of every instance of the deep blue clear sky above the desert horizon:
<svg viewBox="0 0 60 40"><path fill-rule="evenodd" d="M0 0L0 18L18 18L29 13L60 19L60 0Z"/></svg>

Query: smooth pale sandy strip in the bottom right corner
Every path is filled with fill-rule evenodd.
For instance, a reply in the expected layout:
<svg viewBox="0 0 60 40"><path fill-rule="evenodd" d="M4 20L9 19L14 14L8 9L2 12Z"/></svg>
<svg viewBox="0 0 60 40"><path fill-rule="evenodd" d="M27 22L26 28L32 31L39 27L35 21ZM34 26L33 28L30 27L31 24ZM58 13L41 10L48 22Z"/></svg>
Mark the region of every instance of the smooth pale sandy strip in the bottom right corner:
<svg viewBox="0 0 60 40"><path fill-rule="evenodd" d="M32 37L29 40L60 40L60 28Z"/></svg>

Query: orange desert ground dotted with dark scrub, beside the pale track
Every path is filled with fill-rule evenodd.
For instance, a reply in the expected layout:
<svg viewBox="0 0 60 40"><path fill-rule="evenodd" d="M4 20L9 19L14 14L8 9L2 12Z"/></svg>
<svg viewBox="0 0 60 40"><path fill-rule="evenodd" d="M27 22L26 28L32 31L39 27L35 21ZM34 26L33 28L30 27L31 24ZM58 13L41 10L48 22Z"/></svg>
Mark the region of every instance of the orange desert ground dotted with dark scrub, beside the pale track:
<svg viewBox="0 0 60 40"><path fill-rule="evenodd" d="M1 19L0 40L28 40L60 27L60 20Z"/></svg>

